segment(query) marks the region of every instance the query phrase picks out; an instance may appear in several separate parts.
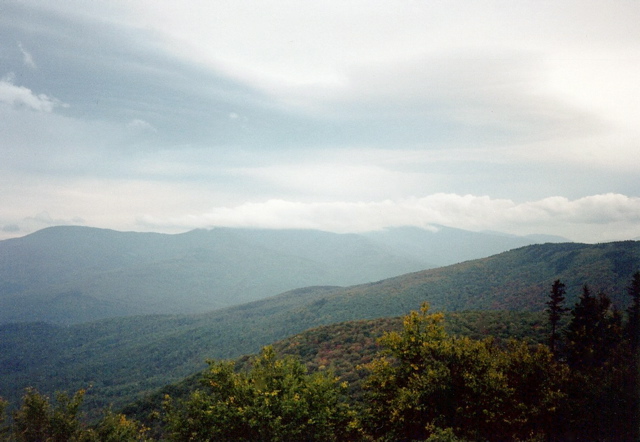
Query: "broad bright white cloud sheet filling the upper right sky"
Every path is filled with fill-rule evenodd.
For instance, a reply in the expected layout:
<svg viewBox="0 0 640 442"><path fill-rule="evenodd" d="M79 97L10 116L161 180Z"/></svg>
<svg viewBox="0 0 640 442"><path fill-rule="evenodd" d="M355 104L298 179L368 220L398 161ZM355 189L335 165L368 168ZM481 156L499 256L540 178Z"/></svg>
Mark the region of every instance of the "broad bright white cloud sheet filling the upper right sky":
<svg viewBox="0 0 640 442"><path fill-rule="evenodd" d="M633 2L160 4L120 20L307 116L595 166L629 167L640 141Z"/></svg>

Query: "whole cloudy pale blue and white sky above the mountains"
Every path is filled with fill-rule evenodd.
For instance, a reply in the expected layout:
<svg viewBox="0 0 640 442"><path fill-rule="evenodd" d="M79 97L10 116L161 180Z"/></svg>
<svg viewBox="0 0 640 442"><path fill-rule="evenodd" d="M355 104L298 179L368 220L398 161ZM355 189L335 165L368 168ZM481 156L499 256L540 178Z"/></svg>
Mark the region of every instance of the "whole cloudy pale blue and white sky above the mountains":
<svg viewBox="0 0 640 442"><path fill-rule="evenodd" d="M640 2L0 2L0 239L640 239Z"/></svg>

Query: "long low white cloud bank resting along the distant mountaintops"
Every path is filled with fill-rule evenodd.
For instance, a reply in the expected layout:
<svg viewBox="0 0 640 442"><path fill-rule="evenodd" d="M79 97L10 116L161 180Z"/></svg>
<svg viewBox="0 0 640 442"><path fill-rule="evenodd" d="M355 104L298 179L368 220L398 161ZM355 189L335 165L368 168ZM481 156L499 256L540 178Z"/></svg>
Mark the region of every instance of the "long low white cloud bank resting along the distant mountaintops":
<svg viewBox="0 0 640 442"><path fill-rule="evenodd" d="M591 232L601 229L602 224L622 226L624 234L639 233L640 198L603 194L575 200L551 197L516 203L488 196L440 193L372 202L305 203L272 199L217 207L200 215L165 219L142 216L139 222L146 226L184 228L229 226L334 232L362 232L397 226L427 228L436 224L476 231L501 229L515 234L579 235L576 240L593 241L617 238L618 232L614 231L594 238ZM578 230L588 233L580 235Z"/></svg>

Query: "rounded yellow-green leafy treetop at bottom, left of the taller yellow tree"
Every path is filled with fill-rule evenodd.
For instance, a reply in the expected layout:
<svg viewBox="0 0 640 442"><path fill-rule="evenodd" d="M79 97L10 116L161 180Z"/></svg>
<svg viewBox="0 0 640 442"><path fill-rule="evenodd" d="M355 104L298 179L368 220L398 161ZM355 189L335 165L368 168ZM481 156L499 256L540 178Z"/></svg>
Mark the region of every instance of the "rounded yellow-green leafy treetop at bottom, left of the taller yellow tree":
<svg viewBox="0 0 640 442"><path fill-rule="evenodd" d="M306 373L292 358L263 349L249 372L231 362L209 363L204 387L187 400L165 401L171 440L343 440L353 413L344 385L329 373Z"/></svg>

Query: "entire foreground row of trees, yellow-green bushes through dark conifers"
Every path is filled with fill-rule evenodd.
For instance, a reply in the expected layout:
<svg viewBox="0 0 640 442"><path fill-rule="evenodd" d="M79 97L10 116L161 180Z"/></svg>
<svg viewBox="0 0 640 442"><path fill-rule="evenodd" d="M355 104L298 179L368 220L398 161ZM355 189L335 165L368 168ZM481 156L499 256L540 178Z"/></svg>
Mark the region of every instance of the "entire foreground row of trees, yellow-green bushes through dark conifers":
<svg viewBox="0 0 640 442"><path fill-rule="evenodd" d="M556 280L546 343L473 338L428 304L387 328L349 381L272 346L211 360L196 386L141 421L107 410L89 425L84 391L55 401L27 390L0 430L8 440L637 440L640 272L629 307L583 286L572 308ZM360 348L361 353L366 353ZM2 402L4 410L6 402Z"/></svg>

